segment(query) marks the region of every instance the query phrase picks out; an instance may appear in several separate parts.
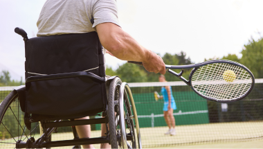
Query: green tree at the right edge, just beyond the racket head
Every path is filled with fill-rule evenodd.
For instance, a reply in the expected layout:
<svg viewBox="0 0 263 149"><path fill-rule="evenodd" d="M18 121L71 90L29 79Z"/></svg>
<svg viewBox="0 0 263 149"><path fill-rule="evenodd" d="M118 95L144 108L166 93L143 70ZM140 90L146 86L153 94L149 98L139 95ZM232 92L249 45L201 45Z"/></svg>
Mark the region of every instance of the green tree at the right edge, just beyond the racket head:
<svg viewBox="0 0 263 149"><path fill-rule="evenodd" d="M244 47L240 62L252 71L255 78L263 78L263 38L249 40Z"/></svg>

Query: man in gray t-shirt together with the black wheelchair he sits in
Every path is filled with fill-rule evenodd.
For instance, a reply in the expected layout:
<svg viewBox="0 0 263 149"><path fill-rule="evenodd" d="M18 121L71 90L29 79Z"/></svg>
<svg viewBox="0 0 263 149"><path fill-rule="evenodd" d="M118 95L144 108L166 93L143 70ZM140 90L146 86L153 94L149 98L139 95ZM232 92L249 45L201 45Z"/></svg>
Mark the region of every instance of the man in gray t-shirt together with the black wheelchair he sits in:
<svg viewBox="0 0 263 149"><path fill-rule="evenodd" d="M129 87L116 76L105 78L104 54L143 62L143 67L154 73L165 74L165 64L120 28L117 12L114 0L47 0L37 21L37 37L28 39L24 30L16 28L26 48L26 88L16 89L19 102L26 127L31 129L30 123L40 121L44 128L41 139L19 141L17 148L62 144L93 148L92 143L101 143L101 148L141 148L140 140L138 146L126 142L139 137L139 130L137 135L133 130L136 109ZM102 119L89 119L98 112L103 112ZM89 139L90 125L84 124L94 123L102 123L102 138ZM137 129L138 119L135 123ZM51 141L53 130L66 125L75 125L78 143Z"/></svg>

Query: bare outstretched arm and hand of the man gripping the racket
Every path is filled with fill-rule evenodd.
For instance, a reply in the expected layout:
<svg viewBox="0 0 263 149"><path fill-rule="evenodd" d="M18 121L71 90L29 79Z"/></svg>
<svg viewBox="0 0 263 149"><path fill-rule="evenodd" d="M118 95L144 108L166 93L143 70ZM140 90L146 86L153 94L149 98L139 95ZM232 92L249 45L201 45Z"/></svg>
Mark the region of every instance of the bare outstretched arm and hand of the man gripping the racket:
<svg viewBox="0 0 263 149"><path fill-rule="evenodd" d="M149 72L165 74L165 64L160 56L138 44L131 35L113 23L96 26L100 43L120 60L143 62Z"/></svg>

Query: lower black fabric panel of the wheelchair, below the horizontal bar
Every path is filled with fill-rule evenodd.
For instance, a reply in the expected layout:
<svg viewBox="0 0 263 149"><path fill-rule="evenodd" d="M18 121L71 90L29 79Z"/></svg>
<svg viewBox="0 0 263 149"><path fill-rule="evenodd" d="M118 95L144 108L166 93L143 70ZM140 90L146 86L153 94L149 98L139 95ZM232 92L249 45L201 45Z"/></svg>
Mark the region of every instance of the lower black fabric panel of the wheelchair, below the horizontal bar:
<svg viewBox="0 0 263 149"><path fill-rule="evenodd" d="M105 98L105 78L89 72L26 79L26 112L30 114L96 114L105 109Z"/></svg>

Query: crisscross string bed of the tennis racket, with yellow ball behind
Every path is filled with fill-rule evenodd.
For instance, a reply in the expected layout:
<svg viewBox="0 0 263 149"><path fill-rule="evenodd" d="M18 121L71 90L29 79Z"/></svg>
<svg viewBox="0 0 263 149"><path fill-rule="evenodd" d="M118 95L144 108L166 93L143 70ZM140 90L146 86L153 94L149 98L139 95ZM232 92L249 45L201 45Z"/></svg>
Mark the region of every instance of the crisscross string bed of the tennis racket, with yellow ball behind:
<svg viewBox="0 0 263 149"><path fill-rule="evenodd" d="M230 71L224 75L225 71ZM192 87L209 98L231 100L246 94L251 88L251 75L242 67L228 63L208 64L192 76Z"/></svg>

